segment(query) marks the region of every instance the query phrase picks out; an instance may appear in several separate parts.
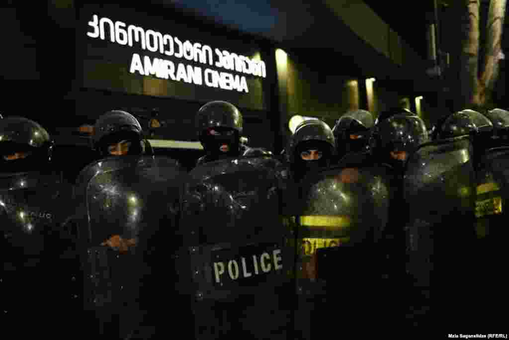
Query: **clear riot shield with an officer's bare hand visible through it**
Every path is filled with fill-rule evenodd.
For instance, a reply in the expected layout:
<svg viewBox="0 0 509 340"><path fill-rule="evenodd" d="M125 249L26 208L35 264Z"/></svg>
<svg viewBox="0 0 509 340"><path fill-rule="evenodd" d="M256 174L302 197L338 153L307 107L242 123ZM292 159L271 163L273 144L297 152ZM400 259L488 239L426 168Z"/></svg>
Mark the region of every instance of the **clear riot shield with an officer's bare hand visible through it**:
<svg viewBox="0 0 509 340"><path fill-rule="evenodd" d="M175 278L169 248L184 177L176 161L159 156L106 158L78 176L75 224L90 336L126 338L155 327L150 319Z"/></svg>

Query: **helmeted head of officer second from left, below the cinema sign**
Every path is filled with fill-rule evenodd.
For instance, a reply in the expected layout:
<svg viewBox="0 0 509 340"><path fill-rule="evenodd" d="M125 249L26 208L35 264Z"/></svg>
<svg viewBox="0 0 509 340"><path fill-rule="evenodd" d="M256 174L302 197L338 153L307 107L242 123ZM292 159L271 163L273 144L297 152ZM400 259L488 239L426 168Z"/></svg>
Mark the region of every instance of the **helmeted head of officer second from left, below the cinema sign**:
<svg viewBox="0 0 509 340"><path fill-rule="evenodd" d="M141 155L144 152L142 126L126 111L112 110L99 117L92 140L101 157Z"/></svg>

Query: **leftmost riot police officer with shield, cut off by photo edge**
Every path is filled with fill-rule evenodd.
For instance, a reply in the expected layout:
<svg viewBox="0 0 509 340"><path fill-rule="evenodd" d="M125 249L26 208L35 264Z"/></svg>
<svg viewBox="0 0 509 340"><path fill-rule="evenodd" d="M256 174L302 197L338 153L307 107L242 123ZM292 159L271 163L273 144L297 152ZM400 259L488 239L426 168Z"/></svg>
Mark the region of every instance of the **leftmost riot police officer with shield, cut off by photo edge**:
<svg viewBox="0 0 509 340"><path fill-rule="evenodd" d="M71 277L79 270L73 244L60 225L72 190L53 169L53 146L46 129L30 119L0 120L2 283L12 295L3 301L5 324L11 324L9 317L19 320L26 314L16 301L23 296L39 315L41 325L35 327L39 332L49 322L43 317L47 305L56 310L71 308L72 294L77 291ZM66 323L64 317L56 316Z"/></svg>

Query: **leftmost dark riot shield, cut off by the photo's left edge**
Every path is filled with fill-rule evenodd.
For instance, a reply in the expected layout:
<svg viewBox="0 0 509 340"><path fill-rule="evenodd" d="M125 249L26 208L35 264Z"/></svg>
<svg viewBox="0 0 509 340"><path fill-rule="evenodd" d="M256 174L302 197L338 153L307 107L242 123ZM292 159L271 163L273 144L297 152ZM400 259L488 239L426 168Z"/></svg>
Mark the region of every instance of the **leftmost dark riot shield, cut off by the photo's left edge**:
<svg viewBox="0 0 509 340"><path fill-rule="evenodd" d="M47 306L64 321L76 307L79 262L73 244L61 229L72 187L58 172L0 174L0 228L3 233L5 324L14 325L31 313L48 327ZM6 330L7 331L7 330ZM30 329L16 329L16 333ZM21 335L23 336L23 335Z"/></svg>

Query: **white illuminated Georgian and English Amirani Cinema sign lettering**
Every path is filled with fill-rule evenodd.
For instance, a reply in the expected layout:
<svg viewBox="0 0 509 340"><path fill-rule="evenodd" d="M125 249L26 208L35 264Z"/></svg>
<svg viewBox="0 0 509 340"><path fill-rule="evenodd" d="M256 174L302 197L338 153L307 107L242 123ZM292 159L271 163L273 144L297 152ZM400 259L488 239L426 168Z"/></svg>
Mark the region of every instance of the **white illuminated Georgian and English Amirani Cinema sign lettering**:
<svg viewBox="0 0 509 340"><path fill-rule="evenodd" d="M218 48L213 50L209 45L189 40L182 41L177 36L145 30L135 25L127 25L122 21L114 22L106 17L99 18L96 14L92 15L92 21L88 24L92 29L87 32L90 38L109 39L119 45L140 47L142 50L158 52L162 55L162 58L151 58L149 55L133 53L129 66L129 72L132 74L245 93L249 93L249 89L244 74L266 77L265 63L262 60L250 59ZM180 61L175 63L165 59L166 56L172 56ZM190 62L204 66L189 65ZM240 75L221 72L211 67L235 71Z"/></svg>

